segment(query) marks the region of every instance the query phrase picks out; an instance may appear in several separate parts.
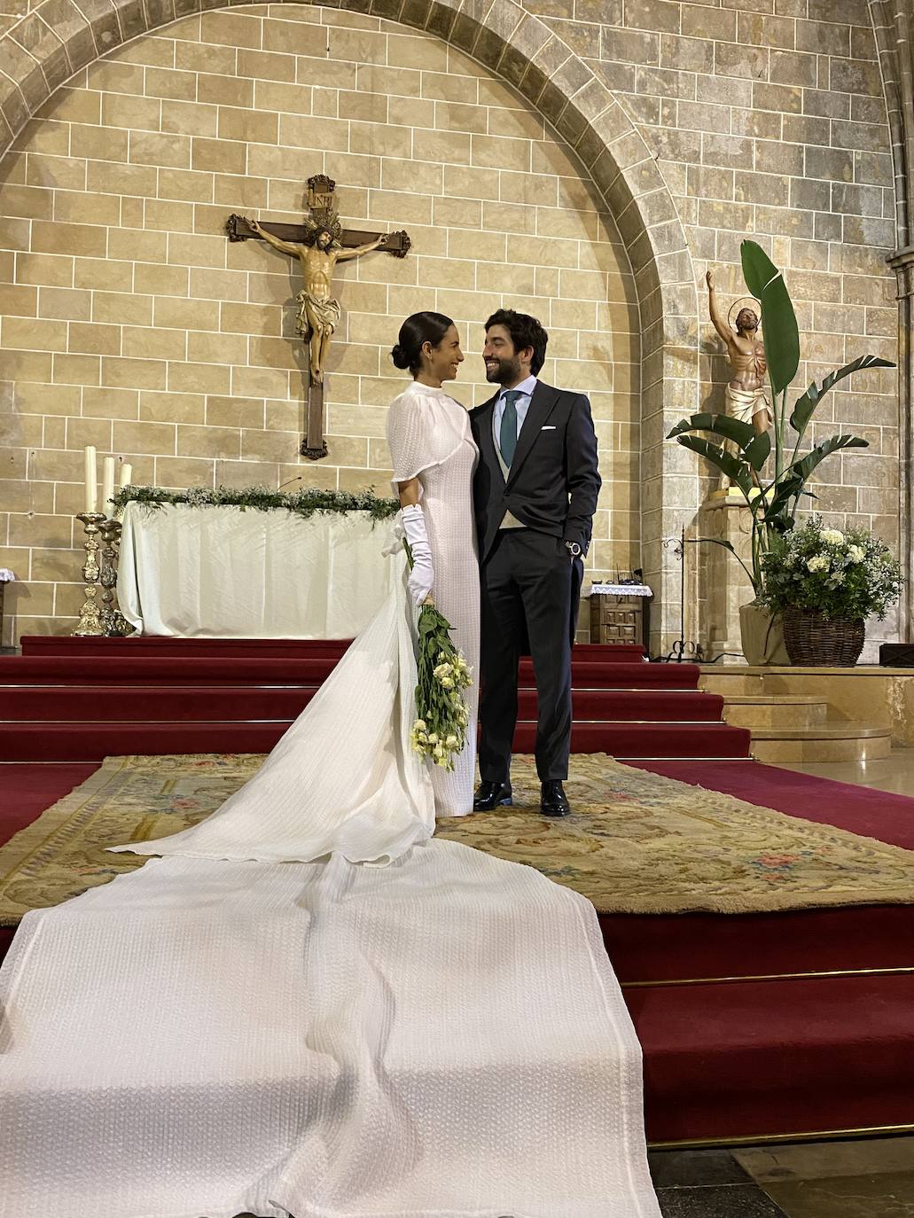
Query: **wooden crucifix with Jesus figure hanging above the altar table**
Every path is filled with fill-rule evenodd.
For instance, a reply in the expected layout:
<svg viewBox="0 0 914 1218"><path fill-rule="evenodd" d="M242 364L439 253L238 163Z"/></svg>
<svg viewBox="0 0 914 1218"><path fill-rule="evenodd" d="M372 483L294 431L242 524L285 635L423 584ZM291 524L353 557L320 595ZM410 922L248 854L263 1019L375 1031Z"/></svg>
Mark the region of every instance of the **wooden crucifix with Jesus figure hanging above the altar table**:
<svg viewBox="0 0 914 1218"><path fill-rule="evenodd" d="M321 173L308 178L308 211L303 224L260 224L245 216L229 216L229 241L260 239L301 263L303 287L296 296L295 329L308 346L308 404L301 456L310 460L327 457L324 428L324 371L334 330L340 320L340 302L330 295L338 262L380 250L405 258L409 252L407 233L367 233L344 229L336 211L336 183Z"/></svg>

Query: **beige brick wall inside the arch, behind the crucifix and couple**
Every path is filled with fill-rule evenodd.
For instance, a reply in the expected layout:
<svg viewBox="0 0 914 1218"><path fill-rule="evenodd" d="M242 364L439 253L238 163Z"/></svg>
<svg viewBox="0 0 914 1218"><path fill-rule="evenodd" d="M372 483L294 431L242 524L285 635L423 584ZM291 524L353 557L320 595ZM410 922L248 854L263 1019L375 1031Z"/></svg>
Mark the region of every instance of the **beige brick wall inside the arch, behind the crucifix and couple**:
<svg viewBox="0 0 914 1218"><path fill-rule="evenodd" d="M296 220L336 179L353 227L407 228L411 255L340 267L330 457L297 457L297 268L229 244L233 211ZM72 79L0 166L0 565L6 642L67 631L82 602L82 447L160 486L386 492L399 320L438 308L490 395L481 322L539 315L544 378L590 393L606 490L591 563L639 552L639 312L624 250L544 121L485 68L378 18L297 5L169 26ZM613 541L608 538L612 536ZM12 609L12 613L10 613Z"/></svg>

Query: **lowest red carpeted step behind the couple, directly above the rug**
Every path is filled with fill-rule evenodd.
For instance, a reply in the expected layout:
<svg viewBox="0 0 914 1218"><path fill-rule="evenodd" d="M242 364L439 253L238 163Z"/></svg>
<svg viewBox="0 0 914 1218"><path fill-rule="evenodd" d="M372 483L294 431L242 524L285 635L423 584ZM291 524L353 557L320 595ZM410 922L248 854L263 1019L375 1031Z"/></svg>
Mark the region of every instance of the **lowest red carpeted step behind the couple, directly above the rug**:
<svg viewBox="0 0 914 1218"><path fill-rule="evenodd" d="M268 753L290 720L273 722L6 722L0 761L95 761L126 753ZM536 725L519 722L518 753L533 753ZM747 756L749 733L724 723L581 722L572 752L620 758Z"/></svg>

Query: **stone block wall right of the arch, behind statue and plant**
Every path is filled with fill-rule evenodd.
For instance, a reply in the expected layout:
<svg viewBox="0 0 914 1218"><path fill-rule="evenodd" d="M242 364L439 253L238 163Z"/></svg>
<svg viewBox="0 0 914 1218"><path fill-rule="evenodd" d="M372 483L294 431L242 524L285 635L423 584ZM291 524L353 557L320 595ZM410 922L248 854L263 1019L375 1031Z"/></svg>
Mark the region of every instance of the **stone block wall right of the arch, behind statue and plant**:
<svg viewBox="0 0 914 1218"><path fill-rule="evenodd" d="M707 319L704 272L725 300L742 295L739 247L763 245L797 307L798 393L871 352L897 358L895 190L890 133L866 0L525 0L613 90L674 197L689 240L701 322L702 404L724 408L728 362ZM670 421L676 406L664 401ZM823 466L820 508L838 526L898 537L895 371L845 381L817 414L865 452ZM658 510L646 453L642 521ZM706 479L704 488L715 485ZM664 488L667 501L675 488ZM692 622L693 628L695 622ZM886 627L891 633L891 624ZM693 635L695 637L695 635Z"/></svg>

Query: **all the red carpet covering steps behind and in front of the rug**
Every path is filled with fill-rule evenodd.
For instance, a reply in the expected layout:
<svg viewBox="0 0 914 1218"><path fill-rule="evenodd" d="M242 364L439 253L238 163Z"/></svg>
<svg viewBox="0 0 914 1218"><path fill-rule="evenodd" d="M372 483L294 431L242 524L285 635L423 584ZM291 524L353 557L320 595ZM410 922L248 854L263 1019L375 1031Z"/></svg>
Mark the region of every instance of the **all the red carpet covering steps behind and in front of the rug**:
<svg viewBox="0 0 914 1218"><path fill-rule="evenodd" d="M267 749L344 647L28 639L22 658L0 659L0 754ZM695 665L642 664L630 649L576 648L575 748L664 758L634 764L914 849L914 800L747 760L748 733L720 723L720 699L700 694L697 677ZM204 717L213 706L218 721ZM534 706L528 688L522 748ZM93 769L4 765L0 837ZM652 1141L914 1124L913 974L746 979L909 968L914 906L601 923L645 1049ZM717 980L670 984L702 978Z"/></svg>

